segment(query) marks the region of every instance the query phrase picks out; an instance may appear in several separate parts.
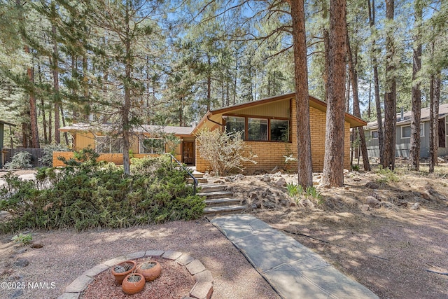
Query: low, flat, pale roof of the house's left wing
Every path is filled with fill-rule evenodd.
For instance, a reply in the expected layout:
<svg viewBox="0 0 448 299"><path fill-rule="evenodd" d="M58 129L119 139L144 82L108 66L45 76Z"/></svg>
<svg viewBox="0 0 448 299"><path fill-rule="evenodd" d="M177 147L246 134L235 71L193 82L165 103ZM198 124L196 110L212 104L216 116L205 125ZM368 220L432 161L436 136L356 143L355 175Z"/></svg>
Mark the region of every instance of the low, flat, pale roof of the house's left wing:
<svg viewBox="0 0 448 299"><path fill-rule="evenodd" d="M61 127L60 132L111 132L116 130L116 125L90 125L87 123L75 123L66 127ZM160 125L142 125L133 130L135 133L164 133L178 136L189 136L193 132L193 127L174 127Z"/></svg>

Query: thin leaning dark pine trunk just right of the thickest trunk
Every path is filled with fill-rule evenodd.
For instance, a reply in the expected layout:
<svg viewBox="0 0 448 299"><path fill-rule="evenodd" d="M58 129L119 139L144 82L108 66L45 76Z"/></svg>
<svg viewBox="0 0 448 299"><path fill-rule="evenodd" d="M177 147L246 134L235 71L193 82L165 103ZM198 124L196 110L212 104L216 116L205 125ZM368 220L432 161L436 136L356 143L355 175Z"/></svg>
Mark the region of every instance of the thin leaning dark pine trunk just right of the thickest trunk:
<svg viewBox="0 0 448 299"><path fill-rule="evenodd" d="M349 29L348 25L345 25L346 29L346 50L347 50L347 60L349 61L349 73L351 79L351 86L353 88L353 115L358 118L361 117L360 107L359 107L359 97L358 97L358 73L356 72L355 63L353 62L353 54L351 53L350 40L349 40ZM354 131L354 130L353 130ZM367 154L367 144L365 143L364 128L358 127L360 148L363 155L363 165L364 170L370 172L370 162ZM355 134L353 132L353 141L355 141Z"/></svg>

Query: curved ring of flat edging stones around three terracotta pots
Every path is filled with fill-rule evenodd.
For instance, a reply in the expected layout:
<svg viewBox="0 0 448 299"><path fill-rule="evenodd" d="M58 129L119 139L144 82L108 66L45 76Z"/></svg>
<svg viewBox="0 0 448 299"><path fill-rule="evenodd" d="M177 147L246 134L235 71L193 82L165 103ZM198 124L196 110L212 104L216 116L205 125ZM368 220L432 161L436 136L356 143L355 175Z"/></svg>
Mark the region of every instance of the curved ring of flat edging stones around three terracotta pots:
<svg viewBox="0 0 448 299"><path fill-rule="evenodd" d="M200 260L193 258L188 255L188 253L179 251L148 250L130 253L126 256L118 256L117 258L106 260L104 263L92 267L92 269L85 271L73 280L71 284L65 288L65 292L57 299L78 299L85 288L87 288L94 277L99 273L109 270L113 265L122 263L125 260L134 260L137 258L165 258L167 260L176 260L176 263L187 268L188 272L193 275L196 281L190 292L179 299L211 298L214 284L213 276L209 270L205 270L205 267Z"/></svg>

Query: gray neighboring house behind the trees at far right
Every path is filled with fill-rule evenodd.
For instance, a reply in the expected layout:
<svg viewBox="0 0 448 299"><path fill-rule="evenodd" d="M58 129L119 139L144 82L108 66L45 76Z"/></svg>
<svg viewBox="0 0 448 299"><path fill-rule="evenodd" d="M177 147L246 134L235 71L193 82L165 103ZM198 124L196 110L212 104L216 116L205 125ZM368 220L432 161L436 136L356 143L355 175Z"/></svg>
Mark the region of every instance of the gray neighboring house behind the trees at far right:
<svg viewBox="0 0 448 299"><path fill-rule="evenodd" d="M409 148L411 148L411 116L412 112L402 111L397 113L397 132L395 144L395 157L409 158ZM437 155L448 155L448 104L439 106L439 148ZM429 157L429 108L421 109L420 124L420 157ZM365 137L367 140L367 153L369 157L379 157L378 145L378 123L376 121L367 123L365 127Z"/></svg>

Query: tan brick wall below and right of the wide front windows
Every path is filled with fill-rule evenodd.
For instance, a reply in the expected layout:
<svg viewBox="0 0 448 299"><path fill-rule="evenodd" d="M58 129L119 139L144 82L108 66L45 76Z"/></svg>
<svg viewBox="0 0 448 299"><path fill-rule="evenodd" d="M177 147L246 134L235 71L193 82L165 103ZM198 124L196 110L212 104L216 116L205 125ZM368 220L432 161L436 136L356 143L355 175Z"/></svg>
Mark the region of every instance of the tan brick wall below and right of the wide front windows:
<svg viewBox="0 0 448 299"><path fill-rule="evenodd" d="M297 158L297 120L295 118L295 100L291 104L291 142L264 142L264 141L246 141L251 151L258 157L255 158L257 164L247 163L245 172L251 174L257 170L271 171L274 167L297 171L297 162L288 162L285 164L283 155L290 155ZM309 107L310 126L311 126L311 158L313 172L321 172L323 169L323 158L325 155L325 112ZM197 148L197 147L196 147ZM344 137L344 167L350 167L350 124L345 122ZM196 150L196 169L199 172L206 172L211 167L209 162L204 160Z"/></svg>

